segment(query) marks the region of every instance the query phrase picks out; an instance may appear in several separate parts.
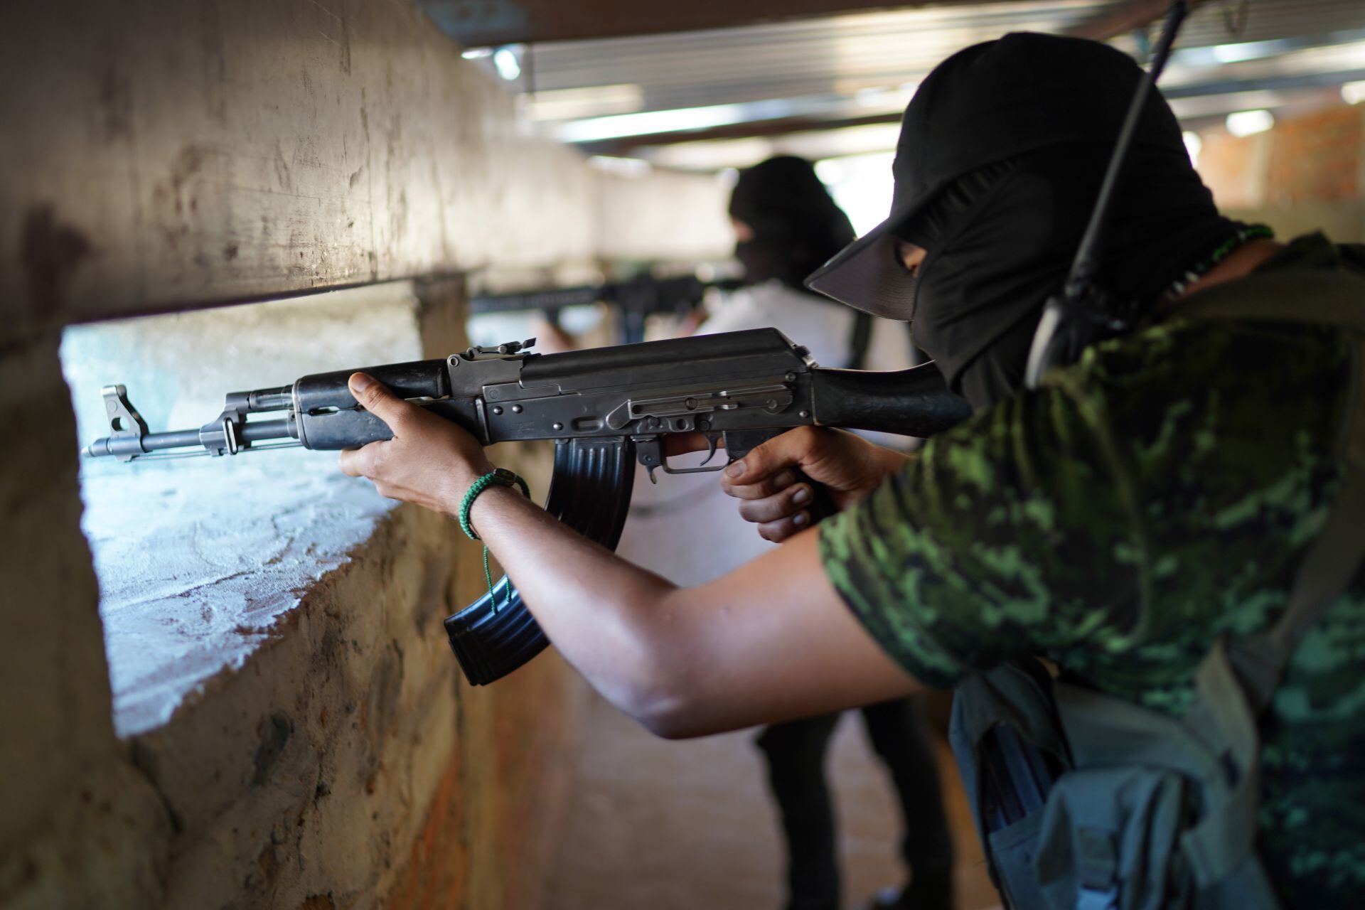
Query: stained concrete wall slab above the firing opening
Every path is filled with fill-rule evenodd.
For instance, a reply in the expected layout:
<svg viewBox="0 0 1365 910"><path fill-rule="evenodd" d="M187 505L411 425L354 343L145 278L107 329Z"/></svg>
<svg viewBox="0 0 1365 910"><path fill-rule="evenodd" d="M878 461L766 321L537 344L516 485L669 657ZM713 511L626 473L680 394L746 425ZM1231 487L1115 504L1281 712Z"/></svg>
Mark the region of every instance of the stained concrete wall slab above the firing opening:
<svg viewBox="0 0 1365 910"><path fill-rule="evenodd" d="M725 250L723 192L681 175L629 187L669 225L616 206L599 237L612 190L405 0L11 0L0 85L0 300L30 329Z"/></svg>

